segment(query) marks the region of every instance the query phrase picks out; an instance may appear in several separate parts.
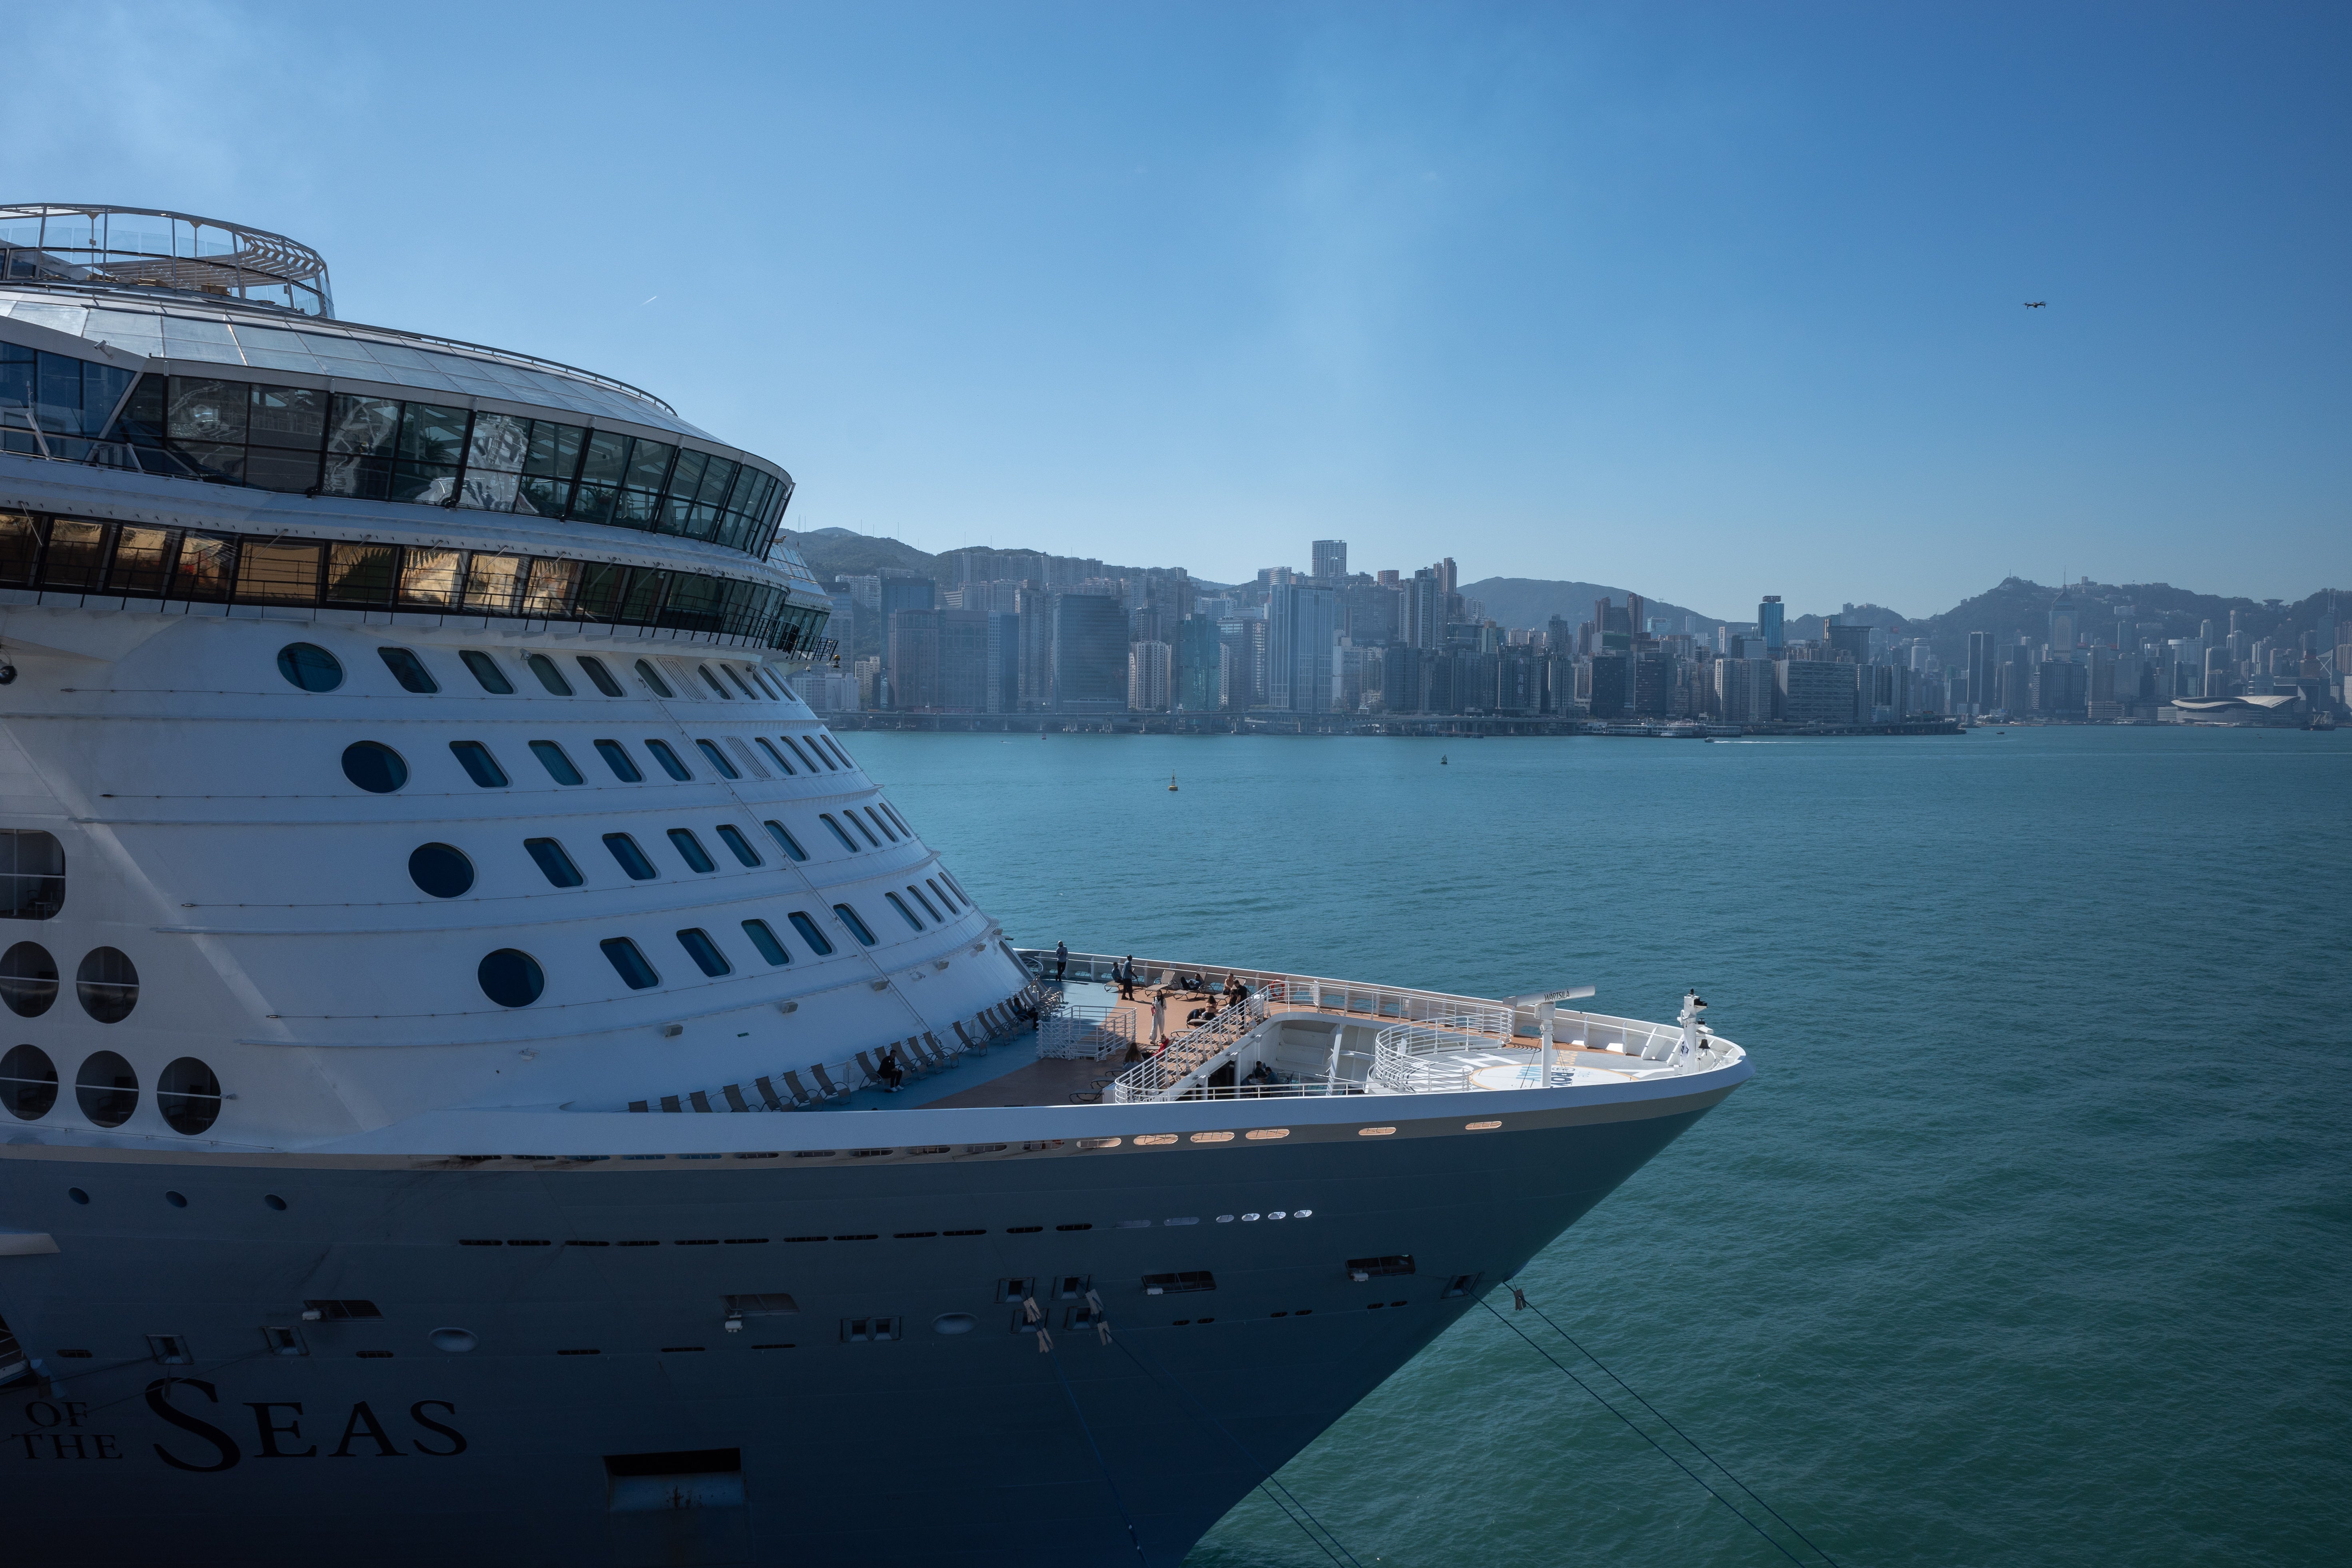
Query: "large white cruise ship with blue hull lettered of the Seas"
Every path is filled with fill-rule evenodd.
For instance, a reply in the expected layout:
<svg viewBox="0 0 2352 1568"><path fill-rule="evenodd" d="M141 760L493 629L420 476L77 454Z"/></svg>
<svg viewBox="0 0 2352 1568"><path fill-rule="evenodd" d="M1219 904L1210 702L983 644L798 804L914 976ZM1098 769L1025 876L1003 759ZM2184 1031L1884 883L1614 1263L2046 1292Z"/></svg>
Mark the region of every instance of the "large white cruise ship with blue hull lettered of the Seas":
<svg viewBox="0 0 2352 1568"><path fill-rule="evenodd" d="M14 1561L1169 1568L1750 1077L1016 945L795 696L790 498L0 207Z"/></svg>

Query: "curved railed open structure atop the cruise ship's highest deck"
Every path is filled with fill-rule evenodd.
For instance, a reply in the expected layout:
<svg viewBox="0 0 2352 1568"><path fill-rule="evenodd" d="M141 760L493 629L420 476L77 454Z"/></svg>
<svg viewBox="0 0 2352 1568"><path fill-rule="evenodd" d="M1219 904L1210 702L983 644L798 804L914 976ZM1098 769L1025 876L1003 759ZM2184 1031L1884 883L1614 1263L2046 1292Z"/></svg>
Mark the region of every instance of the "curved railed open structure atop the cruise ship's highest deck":
<svg viewBox="0 0 2352 1568"><path fill-rule="evenodd" d="M216 294L334 317L327 259L308 244L148 207L0 205L0 282Z"/></svg>

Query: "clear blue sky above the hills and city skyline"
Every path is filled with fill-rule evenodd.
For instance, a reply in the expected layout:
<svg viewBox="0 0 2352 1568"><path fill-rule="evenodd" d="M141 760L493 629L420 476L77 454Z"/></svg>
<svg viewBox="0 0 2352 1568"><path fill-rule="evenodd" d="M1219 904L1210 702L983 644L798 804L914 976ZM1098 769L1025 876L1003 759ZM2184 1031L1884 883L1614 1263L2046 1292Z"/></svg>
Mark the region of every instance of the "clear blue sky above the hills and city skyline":
<svg viewBox="0 0 2352 1568"><path fill-rule="evenodd" d="M2343 7L9 28L7 200L308 240L346 317L647 386L804 529L1719 616L2352 588Z"/></svg>

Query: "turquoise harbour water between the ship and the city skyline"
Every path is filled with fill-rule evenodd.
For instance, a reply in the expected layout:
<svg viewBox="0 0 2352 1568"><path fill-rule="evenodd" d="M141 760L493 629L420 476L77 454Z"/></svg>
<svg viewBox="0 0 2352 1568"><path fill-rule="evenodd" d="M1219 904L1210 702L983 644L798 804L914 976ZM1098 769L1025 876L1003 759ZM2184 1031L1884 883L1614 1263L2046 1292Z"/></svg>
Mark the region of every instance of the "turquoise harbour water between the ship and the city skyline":
<svg viewBox="0 0 2352 1568"><path fill-rule="evenodd" d="M2352 736L851 743L1023 943L1698 985L1757 1079L1517 1284L1844 1568L2352 1559ZM1367 1566L1788 1561L1484 1312L1284 1481Z"/></svg>

